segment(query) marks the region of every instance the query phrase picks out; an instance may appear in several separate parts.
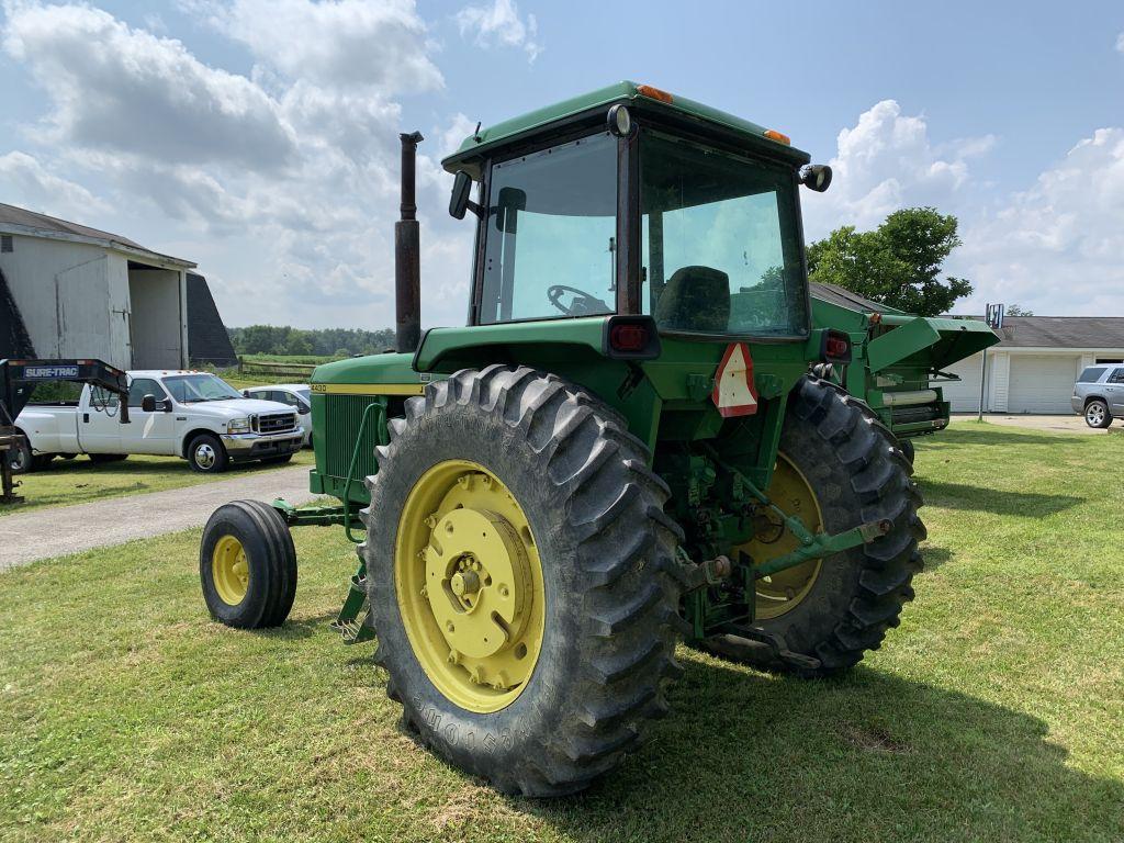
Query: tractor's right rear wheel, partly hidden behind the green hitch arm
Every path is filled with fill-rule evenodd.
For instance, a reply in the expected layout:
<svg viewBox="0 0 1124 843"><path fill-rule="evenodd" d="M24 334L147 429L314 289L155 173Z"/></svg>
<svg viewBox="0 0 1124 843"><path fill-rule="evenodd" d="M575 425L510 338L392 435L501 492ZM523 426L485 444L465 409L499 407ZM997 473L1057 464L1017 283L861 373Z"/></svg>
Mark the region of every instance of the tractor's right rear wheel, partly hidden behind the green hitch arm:
<svg viewBox="0 0 1124 843"><path fill-rule="evenodd" d="M711 652L803 676L831 676L877 650L901 607L913 599L925 526L913 466L894 435L862 405L832 384L805 378L789 396L780 454L769 495L814 529L842 533L883 518L891 531L867 545L806 562L759 580L755 624L818 668L782 662L736 636L704 642ZM798 546L783 525L741 550L759 562Z"/></svg>

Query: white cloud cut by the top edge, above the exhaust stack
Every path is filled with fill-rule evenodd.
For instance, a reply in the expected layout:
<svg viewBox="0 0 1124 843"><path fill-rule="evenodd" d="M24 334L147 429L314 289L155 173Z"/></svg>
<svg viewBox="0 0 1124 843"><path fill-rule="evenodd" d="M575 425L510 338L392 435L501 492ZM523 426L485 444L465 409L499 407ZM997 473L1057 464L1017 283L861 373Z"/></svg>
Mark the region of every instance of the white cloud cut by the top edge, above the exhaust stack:
<svg viewBox="0 0 1124 843"><path fill-rule="evenodd" d="M414 0L187 0L289 79L383 94L444 85Z"/></svg>

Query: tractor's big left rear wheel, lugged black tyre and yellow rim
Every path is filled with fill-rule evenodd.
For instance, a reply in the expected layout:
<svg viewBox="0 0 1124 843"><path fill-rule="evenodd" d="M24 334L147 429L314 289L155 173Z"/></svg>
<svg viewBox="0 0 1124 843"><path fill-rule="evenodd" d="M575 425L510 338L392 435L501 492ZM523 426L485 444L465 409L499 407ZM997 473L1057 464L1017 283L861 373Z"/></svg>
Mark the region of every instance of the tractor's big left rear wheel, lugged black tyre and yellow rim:
<svg viewBox="0 0 1124 843"><path fill-rule="evenodd" d="M375 661L402 722L505 792L570 794L667 711L682 533L606 405L526 368L410 399L368 479Z"/></svg>

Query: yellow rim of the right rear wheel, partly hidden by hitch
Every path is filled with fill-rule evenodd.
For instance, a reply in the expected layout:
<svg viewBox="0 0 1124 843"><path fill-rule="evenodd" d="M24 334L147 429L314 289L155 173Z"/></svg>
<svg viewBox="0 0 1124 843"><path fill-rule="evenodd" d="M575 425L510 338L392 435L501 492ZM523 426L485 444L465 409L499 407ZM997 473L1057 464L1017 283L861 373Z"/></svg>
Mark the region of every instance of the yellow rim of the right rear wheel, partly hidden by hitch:
<svg viewBox="0 0 1124 843"><path fill-rule="evenodd" d="M769 498L786 513L800 516L813 533L823 529L824 518L812 484L783 453L777 455L777 468L769 483ZM770 513L768 522L762 520L755 526L756 535L753 541L741 545L738 550L747 553L759 564L800 546L797 537L785 528L774 514ZM818 559L812 560L758 580L758 619L780 617L799 606L816 583L821 562Z"/></svg>

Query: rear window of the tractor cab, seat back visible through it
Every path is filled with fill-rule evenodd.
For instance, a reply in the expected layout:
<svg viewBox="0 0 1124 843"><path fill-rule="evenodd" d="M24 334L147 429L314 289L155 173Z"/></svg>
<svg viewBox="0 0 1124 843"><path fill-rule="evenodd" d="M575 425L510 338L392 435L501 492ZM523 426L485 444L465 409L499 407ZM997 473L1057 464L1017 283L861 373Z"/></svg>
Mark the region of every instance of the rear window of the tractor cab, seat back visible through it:
<svg viewBox="0 0 1124 843"><path fill-rule="evenodd" d="M641 205L641 300L662 330L807 333L790 166L645 132Z"/></svg>

